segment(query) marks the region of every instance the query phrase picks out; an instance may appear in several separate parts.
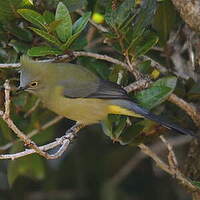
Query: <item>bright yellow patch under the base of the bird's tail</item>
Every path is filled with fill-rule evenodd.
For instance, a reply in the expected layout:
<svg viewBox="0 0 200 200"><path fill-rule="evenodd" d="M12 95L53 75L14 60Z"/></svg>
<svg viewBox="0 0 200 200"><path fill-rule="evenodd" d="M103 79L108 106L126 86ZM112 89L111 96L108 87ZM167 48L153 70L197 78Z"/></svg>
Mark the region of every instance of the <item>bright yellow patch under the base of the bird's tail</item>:
<svg viewBox="0 0 200 200"><path fill-rule="evenodd" d="M142 117L141 115L139 115L131 110L128 110L126 108L122 108L122 107L116 106L116 105L110 105L108 107L108 109L109 109L110 114L128 115L128 116L139 117L139 118Z"/></svg>

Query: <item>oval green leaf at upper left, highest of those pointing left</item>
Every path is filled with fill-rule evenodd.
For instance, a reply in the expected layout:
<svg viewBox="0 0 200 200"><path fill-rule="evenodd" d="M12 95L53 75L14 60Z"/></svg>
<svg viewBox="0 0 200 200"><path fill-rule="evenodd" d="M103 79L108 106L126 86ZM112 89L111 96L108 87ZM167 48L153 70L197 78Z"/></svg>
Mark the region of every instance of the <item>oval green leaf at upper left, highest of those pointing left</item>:
<svg viewBox="0 0 200 200"><path fill-rule="evenodd" d="M17 12L27 21L38 26L39 28L46 29L45 18L38 12L31 9L18 9Z"/></svg>

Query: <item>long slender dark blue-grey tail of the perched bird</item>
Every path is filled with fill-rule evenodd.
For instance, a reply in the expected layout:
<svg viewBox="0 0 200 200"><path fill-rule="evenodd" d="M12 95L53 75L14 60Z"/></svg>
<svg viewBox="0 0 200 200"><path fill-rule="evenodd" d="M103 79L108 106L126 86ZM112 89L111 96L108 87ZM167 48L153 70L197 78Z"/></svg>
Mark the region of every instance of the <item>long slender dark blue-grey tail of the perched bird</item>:
<svg viewBox="0 0 200 200"><path fill-rule="evenodd" d="M174 123L167 122L162 117L157 116L157 115L149 112L148 110L139 107L137 104L135 104L132 101L129 101L129 100L113 100L113 101L115 102L115 105L123 107L125 109L128 109L128 112L124 113L125 115L135 116L135 113L136 113L137 115L139 114L147 119L153 120L153 121L159 123L160 125L168 128L168 129L174 130L180 134L198 137L193 131L191 131L189 129L181 128L180 126L178 126ZM132 111L133 113L130 114L130 111ZM122 113L119 113L119 114L122 114Z"/></svg>

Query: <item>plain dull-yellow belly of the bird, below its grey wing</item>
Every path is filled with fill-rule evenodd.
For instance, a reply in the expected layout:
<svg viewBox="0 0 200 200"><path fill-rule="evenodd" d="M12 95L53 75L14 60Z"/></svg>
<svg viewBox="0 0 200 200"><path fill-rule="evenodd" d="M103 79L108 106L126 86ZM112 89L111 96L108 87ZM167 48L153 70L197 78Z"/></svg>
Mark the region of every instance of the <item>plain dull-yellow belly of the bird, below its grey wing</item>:
<svg viewBox="0 0 200 200"><path fill-rule="evenodd" d="M94 124L106 118L109 105L101 99L59 97L54 102L45 103L47 107L68 119L83 124Z"/></svg>

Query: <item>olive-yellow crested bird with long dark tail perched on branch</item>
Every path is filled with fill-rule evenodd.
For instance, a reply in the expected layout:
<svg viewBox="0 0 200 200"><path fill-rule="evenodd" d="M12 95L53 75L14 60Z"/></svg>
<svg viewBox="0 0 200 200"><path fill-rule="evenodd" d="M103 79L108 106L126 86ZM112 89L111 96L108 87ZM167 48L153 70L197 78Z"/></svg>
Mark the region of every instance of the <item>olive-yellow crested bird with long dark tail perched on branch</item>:
<svg viewBox="0 0 200 200"><path fill-rule="evenodd" d="M120 85L100 79L83 66L38 62L25 55L20 62L19 90L37 95L47 108L68 119L90 125L108 114L143 117L178 133L195 135L141 108Z"/></svg>

